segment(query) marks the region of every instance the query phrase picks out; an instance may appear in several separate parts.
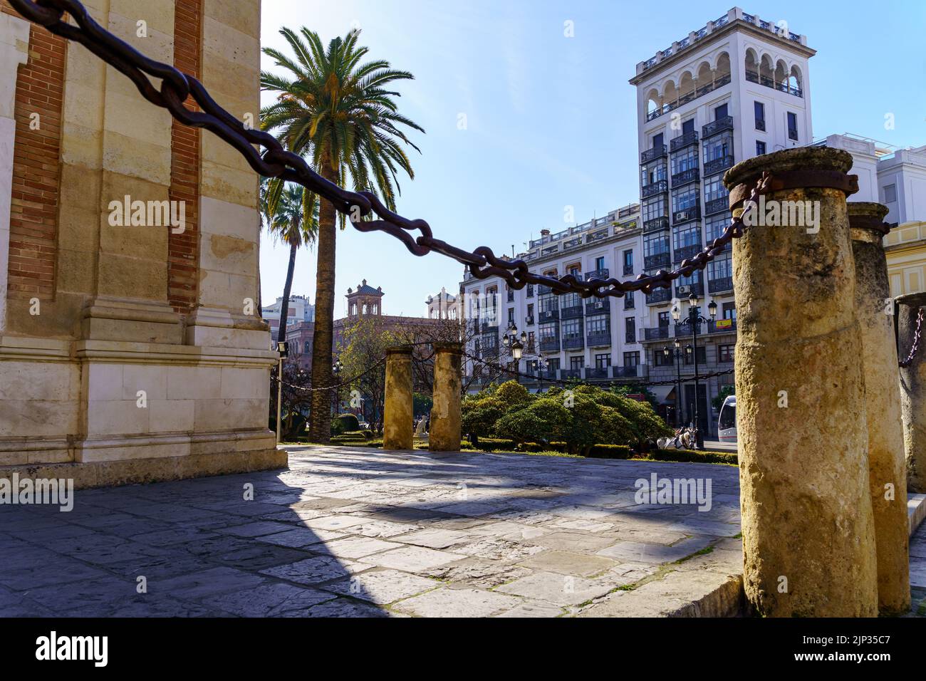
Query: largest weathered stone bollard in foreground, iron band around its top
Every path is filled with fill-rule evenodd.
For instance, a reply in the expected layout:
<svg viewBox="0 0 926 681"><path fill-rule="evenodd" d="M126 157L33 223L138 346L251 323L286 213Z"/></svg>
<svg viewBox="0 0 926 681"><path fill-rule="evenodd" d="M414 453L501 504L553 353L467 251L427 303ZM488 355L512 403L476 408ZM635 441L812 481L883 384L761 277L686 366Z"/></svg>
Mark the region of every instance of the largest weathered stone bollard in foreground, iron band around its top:
<svg viewBox="0 0 926 681"><path fill-rule="evenodd" d="M878 614L851 167L845 151L803 147L724 175L734 214L772 175L733 241L743 577L766 616Z"/></svg>

